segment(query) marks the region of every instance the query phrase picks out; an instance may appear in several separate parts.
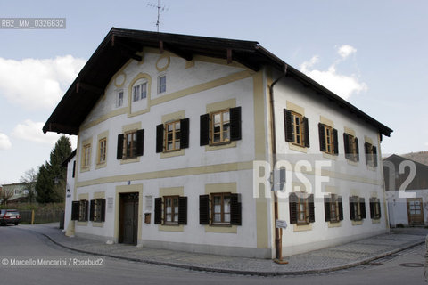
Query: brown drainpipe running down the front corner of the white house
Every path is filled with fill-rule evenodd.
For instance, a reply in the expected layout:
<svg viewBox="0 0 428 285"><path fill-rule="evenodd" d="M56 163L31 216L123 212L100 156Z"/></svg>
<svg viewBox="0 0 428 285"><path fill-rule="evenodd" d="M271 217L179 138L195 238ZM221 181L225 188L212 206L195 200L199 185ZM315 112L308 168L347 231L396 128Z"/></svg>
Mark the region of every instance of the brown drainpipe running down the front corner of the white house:
<svg viewBox="0 0 428 285"><path fill-rule="evenodd" d="M272 163L273 163L273 171L272 171L272 181L275 182L275 167L276 167L276 126L275 126L275 104L274 104L274 86L287 74L288 65L285 64L283 73L276 78L274 82L269 86L269 94L270 94L270 119L271 119L271 142L272 142ZM275 226L275 251L276 251L276 263L287 263L284 262L282 248L283 248L283 238L282 238L282 229L278 229L276 227L276 220L278 219L278 198L276 193L274 192L274 226Z"/></svg>

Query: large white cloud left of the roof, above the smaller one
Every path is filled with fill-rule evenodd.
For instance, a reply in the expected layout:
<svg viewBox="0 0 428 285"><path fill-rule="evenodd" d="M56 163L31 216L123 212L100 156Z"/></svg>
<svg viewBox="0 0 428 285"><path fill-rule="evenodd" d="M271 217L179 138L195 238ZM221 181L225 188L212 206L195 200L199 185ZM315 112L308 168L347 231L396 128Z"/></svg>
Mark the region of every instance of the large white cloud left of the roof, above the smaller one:
<svg viewBox="0 0 428 285"><path fill-rule="evenodd" d="M0 58L0 95L29 110L52 109L85 62L71 55L21 61Z"/></svg>

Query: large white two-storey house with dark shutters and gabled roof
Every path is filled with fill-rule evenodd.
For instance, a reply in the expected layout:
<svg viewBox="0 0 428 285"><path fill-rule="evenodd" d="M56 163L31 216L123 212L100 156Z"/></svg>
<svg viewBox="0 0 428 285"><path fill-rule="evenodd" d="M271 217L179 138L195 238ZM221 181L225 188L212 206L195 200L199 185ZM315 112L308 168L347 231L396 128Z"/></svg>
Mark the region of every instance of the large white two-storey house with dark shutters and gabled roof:
<svg viewBox="0 0 428 285"><path fill-rule="evenodd" d="M257 42L112 28L48 131L78 135L69 235L271 258L388 230L391 129Z"/></svg>

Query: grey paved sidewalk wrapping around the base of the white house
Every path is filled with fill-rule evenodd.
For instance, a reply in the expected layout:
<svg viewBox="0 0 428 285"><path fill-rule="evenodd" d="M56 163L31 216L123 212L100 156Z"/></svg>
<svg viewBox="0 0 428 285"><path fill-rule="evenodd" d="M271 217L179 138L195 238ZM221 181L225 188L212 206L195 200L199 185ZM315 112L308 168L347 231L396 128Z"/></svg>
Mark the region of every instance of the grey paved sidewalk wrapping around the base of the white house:
<svg viewBox="0 0 428 285"><path fill-rule="evenodd" d="M191 270L239 273L261 276L325 273L363 265L400 250L414 247L425 240L427 229L396 229L391 233L357 240L340 246L324 248L296 256L287 256L288 265L278 265L269 259L215 256L201 253L157 248L136 248L124 244L107 245L99 240L69 238L58 224L20 225L22 230L38 232L54 243L94 254L156 265L169 265Z"/></svg>

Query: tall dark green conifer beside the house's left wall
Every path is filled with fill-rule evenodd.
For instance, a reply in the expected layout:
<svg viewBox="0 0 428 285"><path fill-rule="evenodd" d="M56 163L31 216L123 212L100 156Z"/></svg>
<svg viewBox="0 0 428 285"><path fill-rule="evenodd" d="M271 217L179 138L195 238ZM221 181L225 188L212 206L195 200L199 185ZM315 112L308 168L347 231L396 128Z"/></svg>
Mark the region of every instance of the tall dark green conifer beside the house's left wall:
<svg viewBox="0 0 428 285"><path fill-rule="evenodd" d="M64 201L67 167L62 166L62 162L70 156L70 153L70 139L62 135L51 151L49 162L46 161L38 170L36 183L37 202L54 203Z"/></svg>

